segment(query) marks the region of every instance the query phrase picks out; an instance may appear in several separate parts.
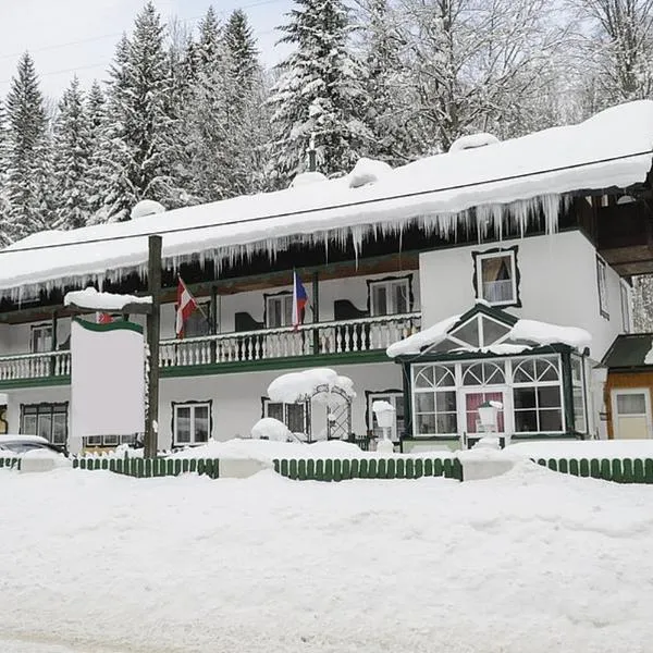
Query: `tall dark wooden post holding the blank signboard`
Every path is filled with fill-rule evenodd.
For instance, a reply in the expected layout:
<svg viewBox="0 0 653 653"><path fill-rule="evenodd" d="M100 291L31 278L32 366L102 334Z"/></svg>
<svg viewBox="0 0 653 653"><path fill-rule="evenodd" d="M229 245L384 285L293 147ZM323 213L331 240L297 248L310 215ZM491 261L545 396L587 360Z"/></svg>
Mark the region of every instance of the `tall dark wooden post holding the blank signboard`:
<svg viewBox="0 0 653 653"><path fill-rule="evenodd" d="M148 409L145 421L145 457L156 458L159 444L159 342L161 336L161 236L150 236L147 263L148 292L152 310L147 316L149 347Z"/></svg>

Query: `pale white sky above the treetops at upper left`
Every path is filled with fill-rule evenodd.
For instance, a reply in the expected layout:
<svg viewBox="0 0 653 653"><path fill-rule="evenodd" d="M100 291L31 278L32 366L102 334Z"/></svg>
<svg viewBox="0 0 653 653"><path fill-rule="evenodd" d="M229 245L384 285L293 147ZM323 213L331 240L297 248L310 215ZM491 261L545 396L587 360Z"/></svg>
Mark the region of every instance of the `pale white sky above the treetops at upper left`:
<svg viewBox="0 0 653 653"><path fill-rule="evenodd" d="M87 86L104 78L115 44L124 30L131 32L143 0L0 0L0 97L21 53L34 57L41 88L48 97L59 97L76 73ZM209 4L222 17L243 8L249 16L261 61L278 63L287 47L275 48L280 34L274 27L292 0L155 0L162 19L171 16L195 27Z"/></svg>

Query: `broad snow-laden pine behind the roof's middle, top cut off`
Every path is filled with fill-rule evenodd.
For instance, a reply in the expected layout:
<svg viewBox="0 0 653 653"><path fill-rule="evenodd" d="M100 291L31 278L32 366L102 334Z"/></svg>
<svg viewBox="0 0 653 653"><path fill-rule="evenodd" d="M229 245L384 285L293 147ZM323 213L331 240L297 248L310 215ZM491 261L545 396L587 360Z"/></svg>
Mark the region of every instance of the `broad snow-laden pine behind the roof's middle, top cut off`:
<svg viewBox="0 0 653 653"><path fill-rule="evenodd" d="M272 89L271 177L285 186L305 169L315 136L321 172L350 170L371 139L360 120L361 70L349 51L352 30L341 0L296 0L281 42L296 50Z"/></svg>

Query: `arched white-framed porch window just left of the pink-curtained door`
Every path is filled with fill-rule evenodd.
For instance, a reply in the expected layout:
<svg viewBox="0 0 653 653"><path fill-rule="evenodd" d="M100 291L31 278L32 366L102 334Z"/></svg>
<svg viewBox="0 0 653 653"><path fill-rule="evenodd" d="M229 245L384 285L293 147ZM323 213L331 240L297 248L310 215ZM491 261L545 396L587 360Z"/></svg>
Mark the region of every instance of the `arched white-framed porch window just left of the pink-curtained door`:
<svg viewBox="0 0 653 653"><path fill-rule="evenodd" d="M412 397L416 436L457 436L458 416L454 366L414 366Z"/></svg>

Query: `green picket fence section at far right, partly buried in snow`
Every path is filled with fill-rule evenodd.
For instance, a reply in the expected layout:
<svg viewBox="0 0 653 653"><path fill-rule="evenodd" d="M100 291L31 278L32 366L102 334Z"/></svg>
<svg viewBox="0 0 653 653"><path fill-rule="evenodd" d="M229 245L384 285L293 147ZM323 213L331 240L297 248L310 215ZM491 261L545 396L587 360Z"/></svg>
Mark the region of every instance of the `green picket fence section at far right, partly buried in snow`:
<svg viewBox="0 0 653 653"><path fill-rule="evenodd" d="M653 483L653 458L538 458L534 461L577 477L616 483Z"/></svg>

